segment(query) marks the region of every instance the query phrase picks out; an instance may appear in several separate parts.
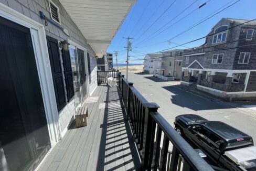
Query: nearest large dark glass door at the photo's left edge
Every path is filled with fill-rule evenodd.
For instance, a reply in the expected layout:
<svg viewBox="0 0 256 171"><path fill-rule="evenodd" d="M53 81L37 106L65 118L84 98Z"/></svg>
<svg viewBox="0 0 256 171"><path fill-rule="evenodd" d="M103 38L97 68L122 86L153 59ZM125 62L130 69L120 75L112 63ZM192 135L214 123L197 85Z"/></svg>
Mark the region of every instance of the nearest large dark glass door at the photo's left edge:
<svg viewBox="0 0 256 171"><path fill-rule="evenodd" d="M30 29L0 17L0 170L34 170L50 148Z"/></svg>

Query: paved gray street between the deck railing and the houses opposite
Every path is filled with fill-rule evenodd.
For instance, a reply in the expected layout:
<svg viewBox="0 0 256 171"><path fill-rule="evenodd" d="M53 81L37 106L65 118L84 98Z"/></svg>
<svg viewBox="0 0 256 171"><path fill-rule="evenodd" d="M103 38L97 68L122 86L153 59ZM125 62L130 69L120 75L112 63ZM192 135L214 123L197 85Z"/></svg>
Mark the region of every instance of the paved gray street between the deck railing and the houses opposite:
<svg viewBox="0 0 256 171"><path fill-rule="evenodd" d="M125 74L122 72L122 74ZM198 114L212 121L222 121L253 137L256 142L256 114L231 107L228 102L220 102L200 97L175 87L179 81L162 81L152 75L129 73L129 81L147 99L156 102L165 119L173 126L175 116Z"/></svg>

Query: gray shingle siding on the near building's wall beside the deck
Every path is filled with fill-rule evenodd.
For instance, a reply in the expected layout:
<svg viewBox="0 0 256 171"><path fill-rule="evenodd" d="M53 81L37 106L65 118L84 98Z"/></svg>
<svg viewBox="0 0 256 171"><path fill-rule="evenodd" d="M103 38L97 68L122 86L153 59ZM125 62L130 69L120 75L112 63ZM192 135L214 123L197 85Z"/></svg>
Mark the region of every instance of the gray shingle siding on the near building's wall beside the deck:
<svg viewBox="0 0 256 171"><path fill-rule="evenodd" d="M39 17L39 11L44 12L44 15L50 18L50 9L48 0L0 0L0 3L3 3L10 8L13 8L17 12L24 14L25 16L35 20L36 22L44 25L46 35L62 41L64 39L70 39L73 42L76 42L78 45L87 49L90 54L90 65L91 65L91 78L92 81L89 84L89 90L94 90L97 87L97 62L95 53L87 44L86 38L83 37L81 31L78 29L76 24L72 21L64 7L57 0L52 0L58 7L60 12L61 26L69 30L70 36L67 36L63 33L61 29L55 25L48 22L48 26L45 26L45 21ZM86 66L88 68L88 66ZM90 95L90 94L89 94ZM61 131L65 130L68 123L70 122L72 116L74 115L74 100L71 100L65 108L59 112L59 123Z"/></svg>

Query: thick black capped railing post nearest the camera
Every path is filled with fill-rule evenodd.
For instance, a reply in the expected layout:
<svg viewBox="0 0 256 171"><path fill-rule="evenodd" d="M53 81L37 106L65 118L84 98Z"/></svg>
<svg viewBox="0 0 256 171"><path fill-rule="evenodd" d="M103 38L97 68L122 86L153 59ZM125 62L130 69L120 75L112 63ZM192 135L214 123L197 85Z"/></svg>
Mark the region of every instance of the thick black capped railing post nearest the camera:
<svg viewBox="0 0 256 171"><path fill-rule="evenodd" d="M145 108L145 119L144 119L144 129L143 129L143 144L142 144L142 170L151 170L152 161L150 161L150 149L152 144L152 136L155 135L155 132L153 132L153 118L150 116L150 112L156 112L159 106L156 103L146 103Z"/></svg>

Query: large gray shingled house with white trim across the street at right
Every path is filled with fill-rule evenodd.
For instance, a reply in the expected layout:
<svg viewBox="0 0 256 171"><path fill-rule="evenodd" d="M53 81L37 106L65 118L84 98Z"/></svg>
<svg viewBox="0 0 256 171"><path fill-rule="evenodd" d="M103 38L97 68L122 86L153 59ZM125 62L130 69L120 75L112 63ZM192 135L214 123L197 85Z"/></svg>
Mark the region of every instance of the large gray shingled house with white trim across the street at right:
<svg viewBox="0 0 256 171"><path fill-rule="evenodd" d="M229 100L256 97L255 28L255 21L222 18L204 45L184 50L181 84Z"/></svg>

